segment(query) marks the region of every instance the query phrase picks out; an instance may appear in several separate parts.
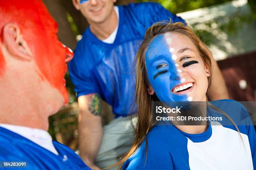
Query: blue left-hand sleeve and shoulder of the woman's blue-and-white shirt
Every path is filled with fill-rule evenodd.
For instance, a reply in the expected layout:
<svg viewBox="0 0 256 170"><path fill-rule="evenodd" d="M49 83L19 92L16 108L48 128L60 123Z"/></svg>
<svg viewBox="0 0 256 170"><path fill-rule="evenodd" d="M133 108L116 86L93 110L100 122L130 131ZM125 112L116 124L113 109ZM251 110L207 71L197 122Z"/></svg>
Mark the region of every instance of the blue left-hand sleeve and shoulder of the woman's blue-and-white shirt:
<svg viewBox="0 0 256 170"><path fill-rule="evenodd" d="M177 147L187 147L187 138L176 133L173 126L157 125L147 134L146 140L138 147L138 150L123 164L123 170L134 169L170 169L172 167L172 153Z"/></svg>

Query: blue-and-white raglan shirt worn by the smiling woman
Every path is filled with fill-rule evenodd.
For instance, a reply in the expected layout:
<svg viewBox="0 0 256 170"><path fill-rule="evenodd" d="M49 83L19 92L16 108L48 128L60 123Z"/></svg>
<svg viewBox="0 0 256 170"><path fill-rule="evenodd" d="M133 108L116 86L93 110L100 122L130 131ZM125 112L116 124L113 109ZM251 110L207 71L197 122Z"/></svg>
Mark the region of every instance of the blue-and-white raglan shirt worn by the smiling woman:
<svg viewBox="0 0 256 170"><path fill-rule="evenodd" d="M230 102L227 102L230 101ZM228 103L228 105L227 105ZM226 112L238 124L241 137L231 125L221 125L227 118L215 110L207 114L222 116L223 121L211 122L201 134L187 134L174 125L156 125L124 164L122 170L253 170L256 168L256 134L248 112L232 100L218 100L213 105ZM243 125L239 125L239 124Z"/></svg>

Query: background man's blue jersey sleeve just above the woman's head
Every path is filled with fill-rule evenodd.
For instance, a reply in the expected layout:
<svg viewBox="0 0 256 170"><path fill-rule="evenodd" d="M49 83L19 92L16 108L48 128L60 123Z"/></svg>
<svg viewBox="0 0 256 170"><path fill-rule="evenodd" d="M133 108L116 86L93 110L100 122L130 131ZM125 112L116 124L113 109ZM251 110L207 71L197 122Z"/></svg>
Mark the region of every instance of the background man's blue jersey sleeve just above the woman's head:
<svg viewBox="0 0 256 170"><path fill-rule="evenodd" d="M130 4L131 9L136 13L137 17L143 24L151 26L156 22L161 22L163 20L172 20L172 23L182 22L186 24L185 20L178 17L175 14L170 13L163 6L156 2L143 2Z"/></svg>

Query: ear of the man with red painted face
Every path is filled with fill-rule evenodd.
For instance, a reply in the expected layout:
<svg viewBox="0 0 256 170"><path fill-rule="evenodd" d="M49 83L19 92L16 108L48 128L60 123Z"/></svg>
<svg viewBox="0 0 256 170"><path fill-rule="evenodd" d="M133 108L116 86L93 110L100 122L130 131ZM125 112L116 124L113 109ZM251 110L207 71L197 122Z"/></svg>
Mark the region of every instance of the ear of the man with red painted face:
<svg viewBox="0 0 256 170"><path fill-rule="evenodd" d="M32 53L26 40L20 34L20 28L16 24L6 24L3 28L3 45L9 54L22 60L31 60Z"/></svg>

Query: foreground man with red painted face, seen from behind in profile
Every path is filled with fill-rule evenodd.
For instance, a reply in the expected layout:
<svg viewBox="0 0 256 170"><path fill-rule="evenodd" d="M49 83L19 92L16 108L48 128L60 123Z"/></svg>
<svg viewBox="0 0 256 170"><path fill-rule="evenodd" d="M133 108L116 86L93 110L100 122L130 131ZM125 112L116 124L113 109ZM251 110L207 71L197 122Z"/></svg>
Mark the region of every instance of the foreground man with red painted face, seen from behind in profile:
<svg viewBox="0 0 256 170"><path fill-rule="evenodd" d="M47 132L48 117L68 101L64 75L73 57L56 22L40 0L2 0L0 18L0 169L89 170Z"/></svg>

